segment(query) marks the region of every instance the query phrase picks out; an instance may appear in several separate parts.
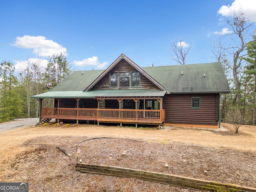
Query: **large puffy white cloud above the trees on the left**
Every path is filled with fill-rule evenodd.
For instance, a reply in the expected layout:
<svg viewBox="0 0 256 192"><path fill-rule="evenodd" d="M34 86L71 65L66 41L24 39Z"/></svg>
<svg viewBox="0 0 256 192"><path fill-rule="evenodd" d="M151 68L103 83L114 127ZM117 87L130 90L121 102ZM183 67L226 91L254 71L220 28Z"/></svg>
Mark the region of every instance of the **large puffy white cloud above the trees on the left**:
<svg viewBox="0 0 256 192"><path fill-rule="evenodd" d="M12 46L16 46L24 49L34 49L33 53L38 56L48 57L53 54L62 54L67 56L66 48L62 45L54 42L53 40L48 40L44 36L29 36L24 35L23 37L16 37L16 41Z"/></svg>

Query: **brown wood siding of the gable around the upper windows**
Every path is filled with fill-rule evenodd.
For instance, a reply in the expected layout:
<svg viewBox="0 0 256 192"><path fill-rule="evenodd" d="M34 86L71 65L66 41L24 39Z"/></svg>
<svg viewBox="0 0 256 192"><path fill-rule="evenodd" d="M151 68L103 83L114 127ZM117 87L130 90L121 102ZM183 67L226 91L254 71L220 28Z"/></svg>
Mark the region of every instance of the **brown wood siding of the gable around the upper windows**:
<svg viewBox="0 0 256 192"><path fill-rule="evenodd" d="M154 83L152 83L143 74L140 74L140 87L125 87L125 88L110 88L110 74L114 72L131 72L137 71L133 66L131 66L126 60L122 59L114 68L110 70L91 90L108 90L108 89L156 89L160 90Z"/></svg>

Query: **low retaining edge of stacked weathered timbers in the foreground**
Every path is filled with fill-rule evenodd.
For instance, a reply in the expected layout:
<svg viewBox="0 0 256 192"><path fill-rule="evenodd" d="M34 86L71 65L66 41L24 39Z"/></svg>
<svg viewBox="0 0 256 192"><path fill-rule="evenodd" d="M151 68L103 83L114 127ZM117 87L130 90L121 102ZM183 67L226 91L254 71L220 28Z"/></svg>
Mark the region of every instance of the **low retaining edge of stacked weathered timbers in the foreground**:
<svg viewBox="0 0 256 192"><path fill-rule="evenodd" d="M100 174L108 176L138 178L150 182L158 182L161 184L169 184L172 186L190 188L195 190L216 191L217 189L232 189L233 191L256 192L256 188L244 187L239 185L223 184L208 180L189 178L184 176L161 174L157 172L149 172L136 169L121 168L115 166L104 166L95 164L77 163L76 170L81 173Z"/></svg>

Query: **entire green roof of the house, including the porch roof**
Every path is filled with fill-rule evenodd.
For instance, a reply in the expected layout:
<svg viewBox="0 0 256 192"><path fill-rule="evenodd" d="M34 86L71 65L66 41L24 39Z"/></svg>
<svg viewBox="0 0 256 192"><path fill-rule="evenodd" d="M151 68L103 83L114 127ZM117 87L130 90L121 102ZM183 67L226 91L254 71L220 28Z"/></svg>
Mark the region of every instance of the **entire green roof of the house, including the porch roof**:
<svg viewBox="0 0 256 192"><path fill-rule="evenodd" d="M95 98L95 97L150 97L164 96L166 92L229 93L230 88L220 62L176 66L142 67L142 73L165 90L89 90L92 82L104 70L75 71L49 92L31 98Z"/></svg>

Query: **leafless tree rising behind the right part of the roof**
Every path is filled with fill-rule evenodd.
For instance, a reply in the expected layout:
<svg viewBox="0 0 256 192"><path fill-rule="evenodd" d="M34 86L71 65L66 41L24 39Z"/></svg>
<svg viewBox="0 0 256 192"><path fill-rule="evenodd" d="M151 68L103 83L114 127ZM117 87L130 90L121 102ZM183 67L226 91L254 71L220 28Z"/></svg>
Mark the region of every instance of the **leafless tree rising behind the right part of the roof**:
<svg viewBox="0 0 256 192"><path fill-rule="evenodd" d="M191 50L192 45L186 44L183 41L183 38L179 38L179 41L176 42L176 39L173 42L170 42L170 47L168 52L170 53L172 59L177 63L184 65L186 63L186 56Z"/></svg>

